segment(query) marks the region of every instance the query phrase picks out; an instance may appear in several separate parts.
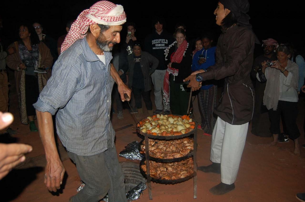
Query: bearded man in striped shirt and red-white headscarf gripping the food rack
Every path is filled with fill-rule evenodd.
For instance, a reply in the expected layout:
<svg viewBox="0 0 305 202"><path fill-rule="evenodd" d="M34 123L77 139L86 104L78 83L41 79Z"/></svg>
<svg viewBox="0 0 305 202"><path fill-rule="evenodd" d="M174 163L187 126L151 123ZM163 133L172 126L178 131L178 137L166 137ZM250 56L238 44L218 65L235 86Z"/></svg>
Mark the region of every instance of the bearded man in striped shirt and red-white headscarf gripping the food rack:
<svg viewBox="0 0 305 202"><path fill-rule="evenodd" d="M48 84L34 104L47 159L46 187L56 192L65 174L54 139L52 115L56 111L57 134L85 183L69 201L100 201L108 193L109 202L127 202L110 122L113 83L117 83L122 101L124 94L130 98L131 93L110 65L110 51L120 43L125 22L123 6L108 1L81 12L61 46Z"/></svg>

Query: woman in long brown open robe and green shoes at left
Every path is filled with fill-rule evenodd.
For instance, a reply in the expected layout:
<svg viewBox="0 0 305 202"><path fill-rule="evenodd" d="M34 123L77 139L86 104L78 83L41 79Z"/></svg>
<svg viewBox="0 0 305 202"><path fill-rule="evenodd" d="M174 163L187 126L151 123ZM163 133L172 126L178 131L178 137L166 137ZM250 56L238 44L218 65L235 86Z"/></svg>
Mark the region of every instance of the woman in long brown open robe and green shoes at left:
<svg viewBox="0 0 305 202"><path fill-rule="evenodd" d="M51 76L49 70L53 57L49 48L39 41L32 25L22 24L19 37L19 41L9 46L15 47L16 53L7 56L5 60L7 66L15 70L20 121L25 125L30 124L30 131L38 131L34 122L36 111L33 104ZM47 73L36 73L40 68Z"/></svg>

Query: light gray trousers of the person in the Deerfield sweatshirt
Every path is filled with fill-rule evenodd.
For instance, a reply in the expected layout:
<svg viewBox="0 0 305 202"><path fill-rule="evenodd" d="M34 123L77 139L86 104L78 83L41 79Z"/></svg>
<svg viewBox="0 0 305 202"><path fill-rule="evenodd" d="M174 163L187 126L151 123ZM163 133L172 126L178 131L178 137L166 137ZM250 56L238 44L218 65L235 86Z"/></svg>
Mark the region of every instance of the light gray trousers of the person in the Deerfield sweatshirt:
<svg viewBox="0 0 305 202"><path fill-rule="evenodd" d="M166 70L155 70L154 73L152 73L152 83L154 87L154 94L155 94L155 104L156 108L159 110L169 111L170 105L166 106L163 101L163 81L165 76ZM163 102L163 106L162 106Z"/></svg>

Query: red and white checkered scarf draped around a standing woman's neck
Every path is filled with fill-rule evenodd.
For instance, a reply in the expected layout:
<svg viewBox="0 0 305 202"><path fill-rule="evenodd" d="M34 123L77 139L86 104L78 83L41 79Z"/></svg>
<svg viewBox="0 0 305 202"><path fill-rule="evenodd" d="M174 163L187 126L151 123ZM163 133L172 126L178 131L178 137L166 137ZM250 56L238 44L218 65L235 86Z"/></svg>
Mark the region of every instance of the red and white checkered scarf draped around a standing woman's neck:
<svg viewBox="0 0 305 202"><path fill-rule="evenodd" d="M170 46L168 46L168 48L165 50L165 55L168 54L169 49L171 46L173 46L175 43L177 43L177 41L175 41L174 43L172 43ZM182 44L178 47L178 49L176 50L176 52L174 52L174 54L172 56L170 56L170 62L172 63L181 63L184 53L186 51L186 49L188 48L188 42L186 40L184 40L182 42ZM170 82L169 82L169 78L170 78L170 74L174 75L174 80L175 80L175 76L178 75L179 70L172 68L172 67L167 67L165 76L164 76L164 80L163 80L163 100L165 105L167 106L170 102L170 97L169 97L169 86L170 86Z"/></svg>

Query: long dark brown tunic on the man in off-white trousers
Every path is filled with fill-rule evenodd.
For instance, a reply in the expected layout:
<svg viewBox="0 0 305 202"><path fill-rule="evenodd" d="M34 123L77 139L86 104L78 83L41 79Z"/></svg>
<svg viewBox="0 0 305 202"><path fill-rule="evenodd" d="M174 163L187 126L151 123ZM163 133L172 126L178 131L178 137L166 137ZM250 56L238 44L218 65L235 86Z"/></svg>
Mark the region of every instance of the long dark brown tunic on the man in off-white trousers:
<svg viewBox="0 0 305 202"><path fill-rule="evenodd" d="M224 79L224 92L214 113L232 125L249 122L253 116L255 91L250 80L255 34L241 26L233 26L219 36L216 63L203 80Z"/></svg>

